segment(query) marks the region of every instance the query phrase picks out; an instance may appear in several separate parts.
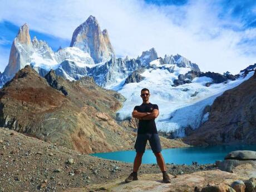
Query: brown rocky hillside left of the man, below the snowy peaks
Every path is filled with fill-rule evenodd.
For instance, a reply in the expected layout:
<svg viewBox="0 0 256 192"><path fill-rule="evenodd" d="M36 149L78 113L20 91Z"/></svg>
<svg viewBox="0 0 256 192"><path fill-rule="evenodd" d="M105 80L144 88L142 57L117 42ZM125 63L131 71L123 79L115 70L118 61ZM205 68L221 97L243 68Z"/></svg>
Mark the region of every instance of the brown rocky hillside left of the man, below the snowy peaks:
<svg viewBox="0 0 256 192"><path fill-rule="evenodd" d="M124 100L90 77L71 82L50 71L43 78L26 66L0 91L0 126L83 153L130 149L135 133L115 121L117 99Z"/></svg>

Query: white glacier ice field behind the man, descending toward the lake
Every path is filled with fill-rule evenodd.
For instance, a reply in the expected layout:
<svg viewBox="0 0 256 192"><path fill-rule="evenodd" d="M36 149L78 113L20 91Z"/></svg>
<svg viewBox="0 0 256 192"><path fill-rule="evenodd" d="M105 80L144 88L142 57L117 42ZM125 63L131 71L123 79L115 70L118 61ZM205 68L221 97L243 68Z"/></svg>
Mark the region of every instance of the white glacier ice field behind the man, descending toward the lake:
<svg viewBox="0 0 256 192"><path fill-rule="evenodd" d="M122 85L121 81L119 85L115 83L108 86L126 98L122 109L117 111L117 120L131 119L134 107L142 103L140 90L146 87L150 90L150 102L159 106L160 114L155 120L157 130L171 132L174 137L184 137L186 127L197 129L208 119L209 113L204 113L206 106L212 105L216 97L224 91L238 86L253 75L253 72L249 72L244 77L241 72L235 81L213 83L209 87L206 87L205 83L212 82L211 78L196 77L191 83L173 87L173 81L178 75L185 74L191 70L190 68L174 66L174 72L170 73L165 68L157 68L156 66L160 66L157 61L151 62L150 65L155 68L148 68L141 73L140 75L145 77L141 82Z"/></svg>

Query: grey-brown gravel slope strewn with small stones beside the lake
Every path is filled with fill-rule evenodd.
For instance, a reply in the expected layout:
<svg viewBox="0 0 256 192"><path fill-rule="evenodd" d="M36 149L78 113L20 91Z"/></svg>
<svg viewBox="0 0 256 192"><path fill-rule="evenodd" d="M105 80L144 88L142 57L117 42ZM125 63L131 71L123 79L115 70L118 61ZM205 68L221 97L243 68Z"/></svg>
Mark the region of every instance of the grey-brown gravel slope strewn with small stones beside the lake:
<svg viewBox="0 0 256 192"><path fill-rule="evenodd" d="M4 128L0 149L0 191L62 191L124 178L132 171L131 163L82 155ZM166 168L171 175L216 169L213 164L166 164ZM156 173L161 173L156 164L143 164L138 176Z"/></svg>

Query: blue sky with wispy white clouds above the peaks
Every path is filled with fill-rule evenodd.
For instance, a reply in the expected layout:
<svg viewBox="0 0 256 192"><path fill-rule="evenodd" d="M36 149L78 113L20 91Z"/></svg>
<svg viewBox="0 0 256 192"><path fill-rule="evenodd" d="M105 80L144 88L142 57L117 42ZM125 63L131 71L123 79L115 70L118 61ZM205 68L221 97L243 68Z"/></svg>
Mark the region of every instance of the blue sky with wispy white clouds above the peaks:
<svg viewBox="0 0 256 192"><path fill-rule="evenodd" d="M95 16L107 29L117 56L137 57L155 47L179 53L202 71L238 73L256 62L256 1L94 0L5 1L0 7L0 71L14 37L28 23L52 47L70 45L75 28Z"/></svg>

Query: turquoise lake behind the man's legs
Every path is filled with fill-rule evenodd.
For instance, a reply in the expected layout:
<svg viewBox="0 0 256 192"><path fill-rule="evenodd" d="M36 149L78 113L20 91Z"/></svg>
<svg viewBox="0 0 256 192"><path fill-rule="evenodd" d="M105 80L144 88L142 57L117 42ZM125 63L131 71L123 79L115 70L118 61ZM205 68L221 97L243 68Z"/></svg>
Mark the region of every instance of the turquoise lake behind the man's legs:
<svg viewBox="0 0 256 192"><path fill-rule="evenodd" d="M224 157L230 151L236 150L253 150L256 151L256 145L221 145L208 147L183 147L175 149L163 149L165 163L186 164L191 165L192 161L198 164L215 163L216 160L224 160ZM91 154L92 156L101 157L104 159L111 159L117 161L125 161L126 163L133 163L135 151L116 151L116 152L101 152ZM151 150L146 150L142 157L142 164L155 164L155 155Z"/></svg>

